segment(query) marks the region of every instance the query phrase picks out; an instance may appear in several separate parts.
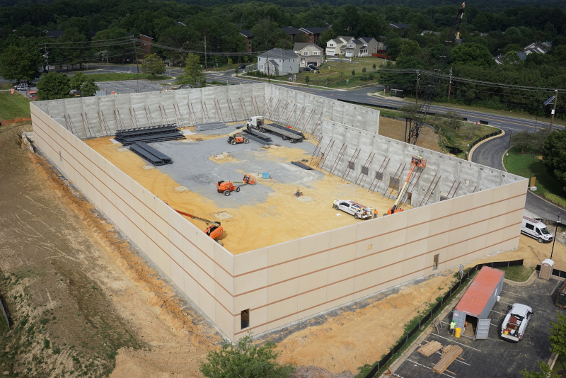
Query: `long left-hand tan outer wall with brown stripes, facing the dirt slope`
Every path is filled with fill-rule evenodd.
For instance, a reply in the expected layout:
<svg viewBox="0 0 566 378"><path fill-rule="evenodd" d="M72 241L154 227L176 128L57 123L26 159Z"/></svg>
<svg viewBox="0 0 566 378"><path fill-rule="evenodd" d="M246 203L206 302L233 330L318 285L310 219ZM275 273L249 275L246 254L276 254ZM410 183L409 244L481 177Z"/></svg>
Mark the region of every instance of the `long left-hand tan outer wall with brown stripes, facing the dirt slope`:
<svg viewBox="0 0 566 378"><path fill-rule="evenodd" d="M233 255L30 104L35 144L226 336Z"/></svg>

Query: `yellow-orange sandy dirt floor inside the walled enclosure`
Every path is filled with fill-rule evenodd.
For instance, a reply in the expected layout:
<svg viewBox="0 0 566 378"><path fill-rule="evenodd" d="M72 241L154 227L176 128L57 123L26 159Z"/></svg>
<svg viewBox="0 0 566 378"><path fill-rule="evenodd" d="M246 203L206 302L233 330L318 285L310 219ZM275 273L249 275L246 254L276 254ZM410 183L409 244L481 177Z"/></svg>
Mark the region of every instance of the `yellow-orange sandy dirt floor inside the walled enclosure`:
<svg viewBox="0 0 566 378"><path fill-rule="evenodd" d="M190 137L196 140L198 134ZM304 197L294 196L296 191L294 185L280 183L275 179L258 178L257 185L266 185L273 190L265 202L224 209L216 205L214 200L198 193L191 191L178 193L174 188L180 184L175 183L170 176L157 169L144 170L142 167L146 166L146 162L143 159L130 151L118 151L121 148L120 145L110 142L108 138L90 139L85 142L151 193L157 195L161 200L168 201L169 205L175 209L206 219L214 219L215 214L220 212L228 212L233 215L222 222L224 235L221 236L221 240L224 247L234 254L364 222L354 219L350 214L334 210L332 205L335 198L351 199L367 207L374 207L378 210L380 217L391 208L394 202L379 193L369 192L340 177L321 171L324 175L322 178L313 181L307 187L301 187ZM206 143L206 141L190 143ZM266 161L272 161L273 164L304 159L305 152L300 147L259 148L259 150L262 156L267 156ZM233 158L210 160L218 164L229 164ZM267 168L268 166L265 172L269 171ZM381 183L381 185L384 184ZM243 188L239 195L249 195L248 193ZM393 195L395 194L396 191ZM405 206L405 208L409 207ZM192 222L200 229L205 228L202 222ZM253 238L248 237L250 231L253 231Z"/></svg>

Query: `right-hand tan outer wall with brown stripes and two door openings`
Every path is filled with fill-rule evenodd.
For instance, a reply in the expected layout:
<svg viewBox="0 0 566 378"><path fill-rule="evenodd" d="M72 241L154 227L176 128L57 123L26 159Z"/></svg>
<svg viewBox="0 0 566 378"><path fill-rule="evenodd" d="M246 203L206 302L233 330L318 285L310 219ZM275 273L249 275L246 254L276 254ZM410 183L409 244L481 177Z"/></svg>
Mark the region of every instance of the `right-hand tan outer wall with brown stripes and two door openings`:
<svg viewBox="0 0 566 378"><path fill-rule="evenodd" d="M520 181L234 256L235 337L244 309L262 333L516 248L525 197Z"/></svg>

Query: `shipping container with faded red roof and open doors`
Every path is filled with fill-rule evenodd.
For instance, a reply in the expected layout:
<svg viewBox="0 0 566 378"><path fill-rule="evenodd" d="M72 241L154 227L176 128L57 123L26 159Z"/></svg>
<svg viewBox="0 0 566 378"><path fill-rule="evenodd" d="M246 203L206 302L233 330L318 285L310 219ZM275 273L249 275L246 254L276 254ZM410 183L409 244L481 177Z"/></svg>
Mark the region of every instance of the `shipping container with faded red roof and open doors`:
<svg viewBox="0 0 566 378"><path fill-rule="evenodd" d="M503 290L504 275L503 270L484 266L475 276L452 315L456 328L462 328L462 336L473 339L488 337L491 321L488 316ZM466 322L468 326L465 328Z"/></svg>

